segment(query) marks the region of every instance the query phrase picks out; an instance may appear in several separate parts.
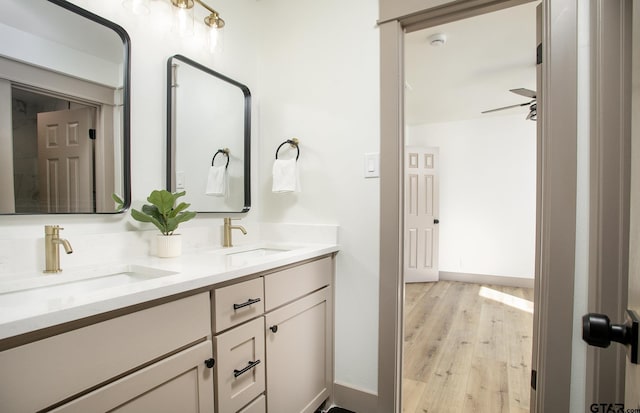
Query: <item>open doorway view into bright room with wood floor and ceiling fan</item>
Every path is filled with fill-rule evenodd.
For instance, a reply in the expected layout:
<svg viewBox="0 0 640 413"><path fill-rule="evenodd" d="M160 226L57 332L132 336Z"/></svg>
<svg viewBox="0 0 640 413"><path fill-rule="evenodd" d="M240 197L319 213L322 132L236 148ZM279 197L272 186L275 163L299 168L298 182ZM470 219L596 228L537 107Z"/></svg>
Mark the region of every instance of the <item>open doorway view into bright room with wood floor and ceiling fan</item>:
<svg viewBox="0 0 640 413"><path fill-rule="evenodd" d="M536 7L528 3L405 35L405 144L439 148L443 280L405 287L407 413L447 406L528 411ZM409 218L405 214L405 225ZM405 282L413 281L406 266Z"/></svg>

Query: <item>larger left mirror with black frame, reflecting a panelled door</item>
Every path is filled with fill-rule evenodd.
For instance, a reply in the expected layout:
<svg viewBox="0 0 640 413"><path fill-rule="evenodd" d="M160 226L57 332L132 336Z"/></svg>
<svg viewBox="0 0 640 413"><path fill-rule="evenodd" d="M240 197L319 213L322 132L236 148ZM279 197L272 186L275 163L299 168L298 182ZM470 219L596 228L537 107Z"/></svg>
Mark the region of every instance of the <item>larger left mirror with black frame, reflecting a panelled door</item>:
<svg viewBox="0 0 640 413"><path fill-rule="evenodd" d="M10 148L0 151L0 213L122 212L131 198L127 32L64 0L6 0L0 36L0 144Z"/></svg>

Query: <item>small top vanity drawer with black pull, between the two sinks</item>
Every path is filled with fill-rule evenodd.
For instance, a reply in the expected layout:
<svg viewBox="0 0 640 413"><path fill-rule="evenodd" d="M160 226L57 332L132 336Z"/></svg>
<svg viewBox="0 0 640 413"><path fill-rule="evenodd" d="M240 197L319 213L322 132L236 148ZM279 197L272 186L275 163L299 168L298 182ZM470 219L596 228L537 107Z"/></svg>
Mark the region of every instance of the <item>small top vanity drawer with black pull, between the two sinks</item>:
<svg viewBox="0 0 640 413"><path fill-rule="evenodd" d="M262 315L264 313L262 278L215 289L213 307L214 333Z"/></svg>

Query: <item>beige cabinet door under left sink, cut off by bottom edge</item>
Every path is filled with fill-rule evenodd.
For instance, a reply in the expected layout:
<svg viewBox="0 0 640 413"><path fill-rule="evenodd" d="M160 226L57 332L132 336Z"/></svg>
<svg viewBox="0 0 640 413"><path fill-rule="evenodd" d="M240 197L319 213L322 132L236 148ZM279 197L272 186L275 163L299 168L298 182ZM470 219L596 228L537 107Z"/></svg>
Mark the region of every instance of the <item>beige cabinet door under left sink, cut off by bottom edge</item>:
<svg viewBox="0 0 640 413"><path fill-rule="evenodd" d="M87 412L213 412L211 341L158 361L53 410Z"/></svg>

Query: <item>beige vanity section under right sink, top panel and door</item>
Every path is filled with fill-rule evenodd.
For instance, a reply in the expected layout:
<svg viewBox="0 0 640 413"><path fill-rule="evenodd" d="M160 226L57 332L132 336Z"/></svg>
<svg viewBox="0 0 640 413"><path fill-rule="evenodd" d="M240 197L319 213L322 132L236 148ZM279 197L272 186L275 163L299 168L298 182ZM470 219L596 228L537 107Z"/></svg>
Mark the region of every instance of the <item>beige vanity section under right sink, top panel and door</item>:
<svg viewBox="0 0 640 413"><path fill-rule="evenodd" d="M313 413L331 396L332 278L330 257L264 278L269 413Z"/></svg>

